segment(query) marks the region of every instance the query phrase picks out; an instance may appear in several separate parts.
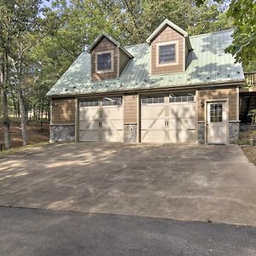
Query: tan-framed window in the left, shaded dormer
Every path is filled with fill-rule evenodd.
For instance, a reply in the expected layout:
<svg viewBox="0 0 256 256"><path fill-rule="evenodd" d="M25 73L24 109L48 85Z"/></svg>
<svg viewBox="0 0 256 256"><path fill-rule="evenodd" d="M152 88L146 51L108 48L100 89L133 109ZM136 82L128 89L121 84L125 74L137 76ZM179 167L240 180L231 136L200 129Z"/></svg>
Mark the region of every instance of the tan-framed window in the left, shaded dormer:
<svg viewBox="0 0 256 256"><path fill-rule="evenodd" d="M113 72L113 50L96 52L96 72Z"/></svg>

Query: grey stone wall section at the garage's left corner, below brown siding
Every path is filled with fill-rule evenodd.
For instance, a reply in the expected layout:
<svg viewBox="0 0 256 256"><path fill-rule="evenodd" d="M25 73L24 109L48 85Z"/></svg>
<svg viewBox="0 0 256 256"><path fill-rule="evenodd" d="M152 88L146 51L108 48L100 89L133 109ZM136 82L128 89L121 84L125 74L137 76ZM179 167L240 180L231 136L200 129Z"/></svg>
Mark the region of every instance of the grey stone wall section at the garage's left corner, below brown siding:
<svg viewBox="0 0 256 256"><path fill-rule="evenodd" d="M75 125L50 125L50 143L72 143L75 141Z"/></svg>

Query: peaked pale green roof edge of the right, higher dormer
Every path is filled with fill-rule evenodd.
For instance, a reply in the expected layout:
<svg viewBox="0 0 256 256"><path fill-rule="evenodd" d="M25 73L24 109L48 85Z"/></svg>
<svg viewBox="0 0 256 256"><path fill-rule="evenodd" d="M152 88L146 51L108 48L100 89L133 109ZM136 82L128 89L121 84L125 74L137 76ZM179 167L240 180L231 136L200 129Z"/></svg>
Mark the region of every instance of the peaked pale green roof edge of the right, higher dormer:
<svg viewBox="0 0 256 256"><path fill-rule="evenodd" d="M183 35L183 37L185 38L186 41L186 45L188 47L188 49L192 49L191 44L190 44L190 40L189 40L189 34L188 32L185 32L181 27L177 26L176 24L174 24L171 20L164 20L160 26L158 26L155 31L146 39L146 42L148 44L151 44L151 42L154 40L154 38L156 38L160 32L162 32L162 30L166 27L166 26L171 26L173 29L175 29L177 32L179 32L180 34Z"/></svg>

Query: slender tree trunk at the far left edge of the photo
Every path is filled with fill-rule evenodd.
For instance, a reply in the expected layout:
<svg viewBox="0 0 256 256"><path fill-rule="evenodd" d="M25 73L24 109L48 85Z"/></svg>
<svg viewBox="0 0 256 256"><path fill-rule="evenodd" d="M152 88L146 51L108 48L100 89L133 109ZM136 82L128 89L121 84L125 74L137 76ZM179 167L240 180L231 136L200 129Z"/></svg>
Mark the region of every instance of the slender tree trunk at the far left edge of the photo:
<svg viewBox="0 0 256 256"><path fill-rule="evenodd" d="M10 143L10 129L9 129L9 113L8 113L8 101L7 101L7 68L5 67L4 55L0 55L0 86L2 94L2 104L3 104L3 137L6 149L11 148Z"/></svg>

